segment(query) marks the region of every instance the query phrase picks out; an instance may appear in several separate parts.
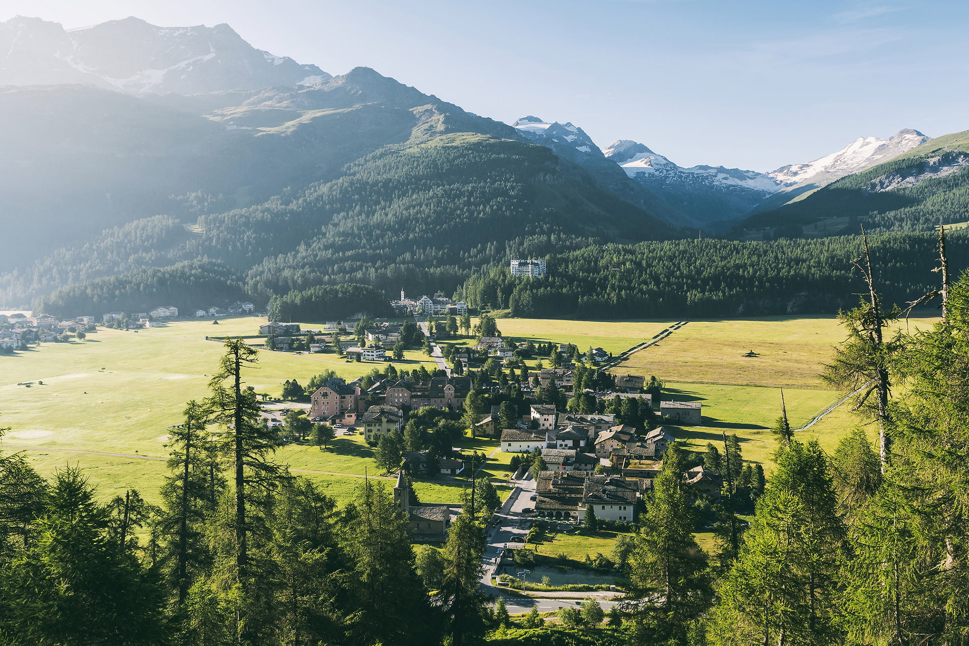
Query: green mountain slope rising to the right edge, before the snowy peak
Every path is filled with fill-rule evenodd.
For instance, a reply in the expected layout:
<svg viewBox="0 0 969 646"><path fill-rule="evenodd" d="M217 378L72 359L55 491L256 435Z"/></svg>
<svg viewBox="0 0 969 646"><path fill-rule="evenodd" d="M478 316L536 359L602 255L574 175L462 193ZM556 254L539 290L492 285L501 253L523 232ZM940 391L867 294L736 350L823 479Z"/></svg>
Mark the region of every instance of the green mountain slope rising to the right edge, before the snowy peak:
<svg viewBox="0 0 969 646"><path fill-rule="evenodd" d="M858 223L874 231L925 231L967 220L969 131L929 139L801 200L755 214L742 229L830 235Z"/></svg>

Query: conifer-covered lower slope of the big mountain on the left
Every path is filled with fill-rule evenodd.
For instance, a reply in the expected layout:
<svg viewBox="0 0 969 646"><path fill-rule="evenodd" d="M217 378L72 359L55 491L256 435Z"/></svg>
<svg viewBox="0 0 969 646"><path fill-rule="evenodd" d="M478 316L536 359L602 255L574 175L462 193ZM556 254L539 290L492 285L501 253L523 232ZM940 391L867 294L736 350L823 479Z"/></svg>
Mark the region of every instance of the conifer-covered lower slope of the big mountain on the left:
<svg viewBox="0 0 969 646"><path fill-rule="evenodd" d="M677 234L582 181L578 169L545 147L475 134L388 146L348 166L338 179L258 206L203 215L198 223L201 235L178 231L171 218L107 231L95 243L35 263L30 273L9 275L8 298L107 276L111 266L135 269L193 259L232 267L232 279L262 303L273 294L318 284L359 283L388 293L451 291L473 268L503 263L511 254L546 255L598 241ZM106 306L124 309L130 307L122 305L130 302L127 294L140 288L120 285L140 276L82 282L53 292L37 307L65 316ZM177 277L190 279L181 271L172 280ZM105 302L108 284L120 294L115 305ZM85 303L81 294L87 292L97 295ZM182 302L196 292L179 293L172 284ZM206 302L211 301L190 305ZM80 310L71 309L76 307Z"/></svg>

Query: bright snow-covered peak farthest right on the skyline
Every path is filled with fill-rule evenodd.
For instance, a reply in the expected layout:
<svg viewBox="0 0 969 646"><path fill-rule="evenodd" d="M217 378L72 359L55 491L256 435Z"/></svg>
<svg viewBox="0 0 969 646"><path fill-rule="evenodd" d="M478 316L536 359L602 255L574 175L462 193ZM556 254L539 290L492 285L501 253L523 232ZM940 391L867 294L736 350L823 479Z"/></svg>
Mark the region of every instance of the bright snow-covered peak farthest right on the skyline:
<svg viewBox="0 0 969 646"><path fill-rule="evenodd" d="M892 138L860 137L841 150L806 164L791 164L768 173L785 186L803 182L828 183L853 172L870 169L921 145L929 138L918 130L901 130Z"/></svg>

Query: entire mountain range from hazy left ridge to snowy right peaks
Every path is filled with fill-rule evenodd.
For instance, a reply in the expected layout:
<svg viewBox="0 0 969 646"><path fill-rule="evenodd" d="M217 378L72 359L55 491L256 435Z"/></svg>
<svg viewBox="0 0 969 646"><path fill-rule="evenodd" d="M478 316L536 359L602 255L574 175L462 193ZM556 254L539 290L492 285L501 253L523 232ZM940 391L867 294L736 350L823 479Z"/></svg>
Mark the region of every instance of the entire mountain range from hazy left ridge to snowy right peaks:
<svg viewBox="0 0 969 646"><path fill-rule="evenodd" d="M252 297L348 282L436 291L518 255L696 229L793 234L836 180L931 144L904 130L772 172L682 168L632 140L601 148L571 123L510 126L367 68L332 77L225 24L138 18L0 23L0 84L0 119L16 124L0 131L11 304L179 263ZM906 170L882 193L962 181L959 160L942 164L949 174ZM97 289L122 290L109 287Z"/></svg>

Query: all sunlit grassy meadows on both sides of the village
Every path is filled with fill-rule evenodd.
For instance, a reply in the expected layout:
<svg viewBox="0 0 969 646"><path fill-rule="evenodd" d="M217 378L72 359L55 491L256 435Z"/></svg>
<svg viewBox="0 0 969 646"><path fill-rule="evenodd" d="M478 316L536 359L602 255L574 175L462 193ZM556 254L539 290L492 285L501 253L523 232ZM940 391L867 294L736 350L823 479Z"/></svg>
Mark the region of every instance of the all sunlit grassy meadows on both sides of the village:
<svg viewBox="0 0 969 646"><path fill-rule="evenodd" d="M222 354L220 343L206 335L254 334L265 319L252 317L168 323L140 331L99 329L84 342L44 344L36 350L0 355L0 423L12 430L3 440L6 451L24 450L44 474L67 464L87 470L102 495L137 486L153 500L165 474L168 427L181 421L186 401L201 399ZM913 319L911 326L931 323ZM536 342L575 343L580 349L603 347L617 354L667 327L667 321L588 322L502 319L506 336ZM799 426L837 400L818 378L831 346L843 339L833 317L694 321L651 348L634 354L615 372L655 374L676 399L703 402L704 426L683 427L677 437L702 450L722 441L723 430L736 433L744 458L765 463L773 439L767 430L780 413L784 387L788 414ZM456 343L466 344L467 340ZM748 351L757 357L744 357ZM408 352L398 367L435 364L422 353ZM306 384L331 368L353 379L376 363L347 362L336 354L260 353L260 364L247 376L258 392L279 394L282 383ZM29 387L26 383L32 383ZM42 384L43 383L43 384ZM803 433L831 450L858 424L842 409ZM462 446L490 454L496 443L466 439ZM104 455L99 453L115 453ZM161 458L161 459L146 459ZM506 482L509 453L497 453L483 469L496 482ZM325 482L334 495L352 495L364 471L379 476L371 450L359 436L341 436L327 451L287 446L278 459L297 473ZM426 502L453 502L454 486L419 483ZM502 489L503 496L507 486ZM584 552L583 552L584 555Z"/></svg>

